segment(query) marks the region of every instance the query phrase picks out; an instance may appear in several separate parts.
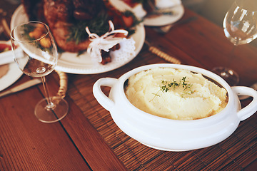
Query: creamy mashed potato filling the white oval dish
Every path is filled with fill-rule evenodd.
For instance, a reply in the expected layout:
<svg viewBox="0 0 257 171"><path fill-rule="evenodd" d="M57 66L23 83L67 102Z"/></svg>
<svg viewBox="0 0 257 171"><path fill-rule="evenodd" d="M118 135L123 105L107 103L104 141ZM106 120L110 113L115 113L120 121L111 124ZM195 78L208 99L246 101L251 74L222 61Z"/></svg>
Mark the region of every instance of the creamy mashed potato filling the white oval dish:
<svg viewBox="0 0 257 171"><path fill-rule="evenodd" d="M173 120L195 120L219 113L227 92L199 73L153 68L131 76L126 97L136 108Z"/></svg>

